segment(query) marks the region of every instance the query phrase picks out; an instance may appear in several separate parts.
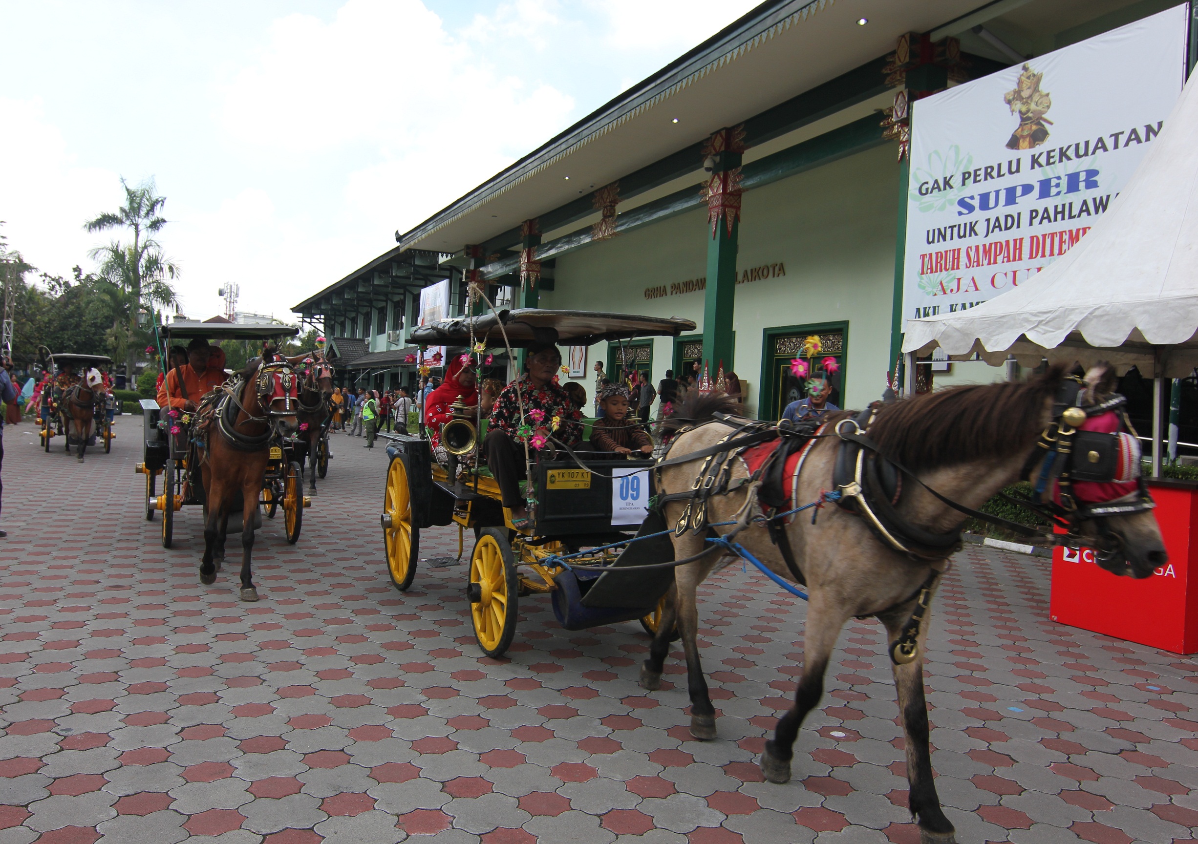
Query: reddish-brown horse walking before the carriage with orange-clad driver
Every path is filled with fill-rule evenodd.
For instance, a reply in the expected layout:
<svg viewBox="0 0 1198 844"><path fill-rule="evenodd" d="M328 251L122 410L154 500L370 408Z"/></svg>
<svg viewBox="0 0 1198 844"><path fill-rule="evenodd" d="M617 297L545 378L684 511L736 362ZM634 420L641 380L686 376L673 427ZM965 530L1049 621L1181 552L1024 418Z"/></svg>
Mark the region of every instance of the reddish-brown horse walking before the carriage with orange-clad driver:
<svg viewBox="0 0 1198 844"><path fill-rule="evenodd" d="M266 479L271 443L291 436L296 420L296 374L286 363L258 363L249 366L201 406L204 423L204 488L207 493L204 518L204 558L200 583L217 577L217 563L224 559L229 515L241 506L241 600L256 601L250 569L254 548L254 517ZM216 433L213 435L213 431Z"/></svg>

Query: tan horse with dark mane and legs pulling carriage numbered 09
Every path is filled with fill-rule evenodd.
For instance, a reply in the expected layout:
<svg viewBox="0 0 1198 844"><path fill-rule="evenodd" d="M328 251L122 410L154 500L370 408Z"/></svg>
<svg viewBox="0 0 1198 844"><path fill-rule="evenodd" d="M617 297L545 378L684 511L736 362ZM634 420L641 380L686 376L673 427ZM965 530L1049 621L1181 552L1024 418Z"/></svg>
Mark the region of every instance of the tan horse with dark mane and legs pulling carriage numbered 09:
<svg viewBox="0 0 1198 844"><path fill-rule="evenodd" d="M877 409L869 437L882 454L898 461L914 473L915 480L903 475L898 503L894 505L907 524L922 529L925 535L945 535L957 530L964 516L933 497L930 487L946 498L969 508L979 508L999 490L1017 480L1021 470L1031 464L1037 436L1053 420L1053 396L1061 381L1060 370L1027 383L997 383L979 387L957 387L910 400L883 405ZM1109 382L1109 380L1107 380ZM702 396L688 401L678 415L691 424L712 417L713 412L736 413L736 407L724 396ZM831 417L823 429L825 436L812 441L811 448L794 480L794 502L805 504L823 498L834 488L834 463L841 439L833 433L839 420L852 425L848 414ZM742 420L743 421L743 420ZM680 427L680 425L679 425ZM676 437L668 459L672 460L709 448L730 435L734 425L719 420L698 424ZM830 435L830 436L829 436ZM1039 453L1043 454L1043 453ZM672 464L661 469L659 494L686 493L694 488L701 460ZM1036 466L1040 466L1036 462ZM761 509L750 496L757 485L739 460L728 482L730 492L708 500L707 524L739 520L746 524L737 541L772 571L794 581L783 558L781 545L751 517ZM1121 499L1120 499L1121 500ZM677 524L683 516L685 500L666 504L666 523ZM780 508L785 510L788 508ZM818 510L812 520L804 512L782 527L781 539L788 542L792 559L806 581L810 601L804 637L804 670L795 691L794 705L778 722L774 737L766 743L761 767L766 778L785 783L791 778L792 746L804 717L819 702L823 675L841 627L853 617L876 617L887 629L889 644L908 640L918 648L908 652L909 661L894 658L894 678L898 708L906 733L907 776L910 783L909 806L919 819L921 839L944 844L955 840L952 824L945 818L933 782L928 753L927 709L924 702L921 655L927 634L927 618L909 629L916 606L931 601L937 577L943 572L946 557L960 545L950 542L940 559L916 559L898 553L871 530L864 515L837 506ZM807 517L804 517L807 516ZM1164 546L1155 517L1150 511L1103 516L1100 524L1082 526L1081 533L1113 538L1120 555L1118 573L1148 577L1152 569L1166 560ZM733 527L685 530L674 538L676 559L700 554L707 538L726 534ZM1101 541L1096 539L1096 541ZM648 690L660 685L664 660L677 620L686 656L688 685L691 700L690 731L696 739L714 739L714 708L700 664L697 646L698 613L696 589L708 575L730 558L709 553L680 565L676 570L676 590L662 614L658 634L649 648L649 657L641 670L641 684ZM922 599L922 600L920 600ZM906 639L906 636L913 638ZM902 638L901 638L902 637Z"/></svg>

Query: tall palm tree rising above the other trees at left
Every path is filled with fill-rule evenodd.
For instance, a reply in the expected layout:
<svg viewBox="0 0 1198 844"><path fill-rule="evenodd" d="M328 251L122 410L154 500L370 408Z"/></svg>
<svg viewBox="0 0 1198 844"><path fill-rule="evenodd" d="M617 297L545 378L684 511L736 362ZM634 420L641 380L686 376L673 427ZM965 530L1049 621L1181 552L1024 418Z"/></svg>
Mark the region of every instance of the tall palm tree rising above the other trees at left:
<svg viewBox="0 0 1198 844"><path fill-rule="evenodd" d="M132 389L138 359L138 344L134 340L140 335L138 316L141 304L173 304L177 297L168 279L179 278L179 267L163 255L162 245L153 238L167 225L165 218L161 215L167 198L156 195L157 187L152 178L133 187L122 178L121 187L125 188L125 205L115 212L87 220L84 229L90 232L126 229L133 235L132 243L113 241L107 247L96 247L89 253L99 262L99 275L128 293L125 342L121 344L115 336L114 340L117 347L125 347L125 374Z"/></svg>

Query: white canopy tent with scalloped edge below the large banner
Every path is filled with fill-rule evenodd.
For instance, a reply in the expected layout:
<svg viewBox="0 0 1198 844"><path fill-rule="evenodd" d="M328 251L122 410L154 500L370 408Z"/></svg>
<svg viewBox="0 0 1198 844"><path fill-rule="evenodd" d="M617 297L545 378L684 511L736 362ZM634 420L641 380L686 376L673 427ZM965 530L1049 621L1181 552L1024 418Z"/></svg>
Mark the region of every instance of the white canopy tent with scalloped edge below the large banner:
<svg viewBox="0 0 1198 844"><path fill-rule="evenodd" d="M1109 360L1155 380L1154 474L1164 377L1198 366L1198 74L1111 210L1027 284L955 314L903 323L903 352L937 346L991 365ZM908 358L908 372L913 360Z"/></svg>

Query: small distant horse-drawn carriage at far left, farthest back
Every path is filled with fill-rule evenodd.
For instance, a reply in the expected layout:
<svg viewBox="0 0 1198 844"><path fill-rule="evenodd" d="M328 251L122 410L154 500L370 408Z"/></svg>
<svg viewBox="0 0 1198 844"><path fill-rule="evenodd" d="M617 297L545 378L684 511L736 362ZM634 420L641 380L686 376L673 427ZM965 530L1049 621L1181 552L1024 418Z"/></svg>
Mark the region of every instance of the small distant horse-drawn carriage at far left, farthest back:
<svg viewBox="0 0 1198 844"><path fill-rule="evenodd" d="M75 445L79 460L92 444L92 438L103 441L105 454L113 450L114 399L101 384L90 383L87 377L92 370L111 365L113 360L107 354L48 354L47 371L54 381L42 389L38 408L42 420L38 435L47 453L54 437L62 437L67 454Z"/></svg>

